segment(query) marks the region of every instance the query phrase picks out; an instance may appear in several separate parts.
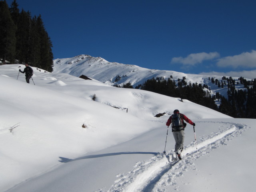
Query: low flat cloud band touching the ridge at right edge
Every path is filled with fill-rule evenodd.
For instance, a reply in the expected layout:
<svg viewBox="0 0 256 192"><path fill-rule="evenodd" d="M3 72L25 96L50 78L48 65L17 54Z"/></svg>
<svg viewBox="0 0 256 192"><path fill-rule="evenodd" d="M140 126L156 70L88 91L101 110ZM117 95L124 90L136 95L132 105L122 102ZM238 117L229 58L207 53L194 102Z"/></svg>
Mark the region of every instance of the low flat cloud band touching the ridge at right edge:
<svg viewBox="0 0 256 192"><path fill-rule="evenodd" d="M256 70L251 71L230 71L230 72L202 72L200 75L218 75L218 76L229 76L229 77L244 77L248 79L254 79L256 78Z"/></svg>

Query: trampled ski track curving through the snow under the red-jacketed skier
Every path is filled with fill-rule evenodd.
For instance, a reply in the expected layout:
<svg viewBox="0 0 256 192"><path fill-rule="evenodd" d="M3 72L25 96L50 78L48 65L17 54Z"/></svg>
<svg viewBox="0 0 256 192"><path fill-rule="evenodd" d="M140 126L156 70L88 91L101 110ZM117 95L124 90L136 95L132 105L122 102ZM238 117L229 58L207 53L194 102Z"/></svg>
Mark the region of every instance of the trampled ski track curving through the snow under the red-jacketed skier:
<svg viewBox="0 0 256 192"><path fill-rule="evenodd" d="M173 191L178 190L176 179L182 176L184 171L195 168L194 160L210 153L220 145L226 145L227 141L239 136L249 128L245 124L231 122L212 123L225 124L227 127L218 134L202 136L200 140L197 138L198 154L195 141L184 146L182 152L184 157L178 162L172 162L174 150L169 151L168 155L159 153L149 160L137 162L132 171L118 174L117 180L109 190L100 189L96 192L165 192L166 186L172 186Z"/></svg>

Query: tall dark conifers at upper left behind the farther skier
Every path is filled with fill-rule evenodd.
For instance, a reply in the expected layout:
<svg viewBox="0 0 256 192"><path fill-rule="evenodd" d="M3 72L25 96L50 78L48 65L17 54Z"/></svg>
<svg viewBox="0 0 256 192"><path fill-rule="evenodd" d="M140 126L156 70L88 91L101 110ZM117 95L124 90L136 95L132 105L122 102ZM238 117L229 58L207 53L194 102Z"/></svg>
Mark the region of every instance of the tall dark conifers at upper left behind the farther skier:
<svg viewBox="0 0 256 192"><path fill-rule="evenodd" d="M0 59L52 72L52 42L41 15L31 16L29 11L20 11L16 0L10 6L0 0Z"/></svg>

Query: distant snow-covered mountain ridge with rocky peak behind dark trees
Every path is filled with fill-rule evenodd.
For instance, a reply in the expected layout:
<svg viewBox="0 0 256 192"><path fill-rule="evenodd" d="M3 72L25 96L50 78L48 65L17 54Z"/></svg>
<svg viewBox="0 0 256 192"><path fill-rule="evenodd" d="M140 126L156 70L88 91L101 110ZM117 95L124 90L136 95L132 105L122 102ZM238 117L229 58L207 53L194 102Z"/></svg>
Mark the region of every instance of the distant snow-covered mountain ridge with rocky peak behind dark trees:
<svg viewBox="0 0 256 192"><path fill-rule="evenodd" d="M143 84L145 80L164 77L164 78L178 78L186 77L187 82L191 83L207 83L204 80L209 76L184 74L176 71L155 70L142 68L136 65L120 64L116 62L108 62L100 57L92 57L89 55L79 55L73 58L55 59L54 73L67 73L73 76L86 75L92 77L105 84L126 84L130 82L134 87L138 84ZM120 80L115 82L116 76L120 76ZM211 76L221 79L220 76Z"/></svg>

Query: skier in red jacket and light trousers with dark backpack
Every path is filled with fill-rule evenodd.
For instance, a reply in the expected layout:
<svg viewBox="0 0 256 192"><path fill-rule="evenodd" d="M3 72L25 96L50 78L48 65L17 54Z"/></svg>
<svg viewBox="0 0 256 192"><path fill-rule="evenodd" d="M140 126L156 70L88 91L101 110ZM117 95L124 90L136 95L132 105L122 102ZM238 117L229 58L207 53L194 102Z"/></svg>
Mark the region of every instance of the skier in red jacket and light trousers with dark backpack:
<svg viewBox="0 0 256 192"><path fill-rule="evenodd" d="M181 114L178 109L174 110L173 113L174 114L170 116L170 118L166 122L166 125L170 126L170 124L172 124L172 134L175 140L175 153L177 154L178 158L181 159L180 153L183 150L184 130L186 127L186 123L183 120L193 126L195 126L196 124L193 123L184 114Z"/></svg>

